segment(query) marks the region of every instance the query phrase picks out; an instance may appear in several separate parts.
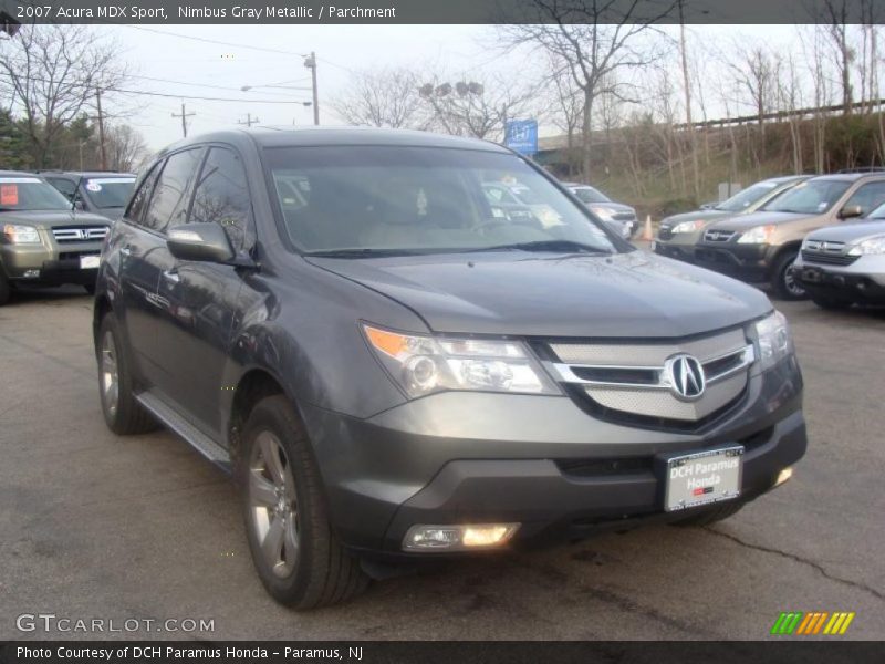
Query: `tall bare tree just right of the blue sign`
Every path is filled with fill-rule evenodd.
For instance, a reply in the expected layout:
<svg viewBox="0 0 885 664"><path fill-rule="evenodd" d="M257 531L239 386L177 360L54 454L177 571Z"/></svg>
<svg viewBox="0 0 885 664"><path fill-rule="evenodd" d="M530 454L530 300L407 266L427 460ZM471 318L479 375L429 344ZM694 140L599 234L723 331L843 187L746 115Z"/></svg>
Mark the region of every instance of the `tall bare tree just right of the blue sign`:
<svg viewBox="0 0 885 664"><path fill-rule="evenodd" d="M615 89L606 87L606 76L622 70L645 68L659 58L660 48L667 40L647 43L642 37L670 15L677 1L529 0L527 21L533 22L499 28L506 45L542 49L566 63L575 85L584 95L581 129L585 178L590 177L591 169L594 104L601 94L625 96L628 90L625 80L620 80Z"/></svg>

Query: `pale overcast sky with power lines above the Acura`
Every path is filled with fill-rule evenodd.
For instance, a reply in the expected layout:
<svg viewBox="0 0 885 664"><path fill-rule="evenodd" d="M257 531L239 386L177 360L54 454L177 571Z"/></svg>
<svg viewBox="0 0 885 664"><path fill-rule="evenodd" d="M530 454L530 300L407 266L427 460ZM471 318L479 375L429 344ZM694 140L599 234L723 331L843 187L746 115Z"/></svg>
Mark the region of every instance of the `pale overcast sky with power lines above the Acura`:
<svg viewBox="0 0 885 664"><path fill-rule="evenodd" d="M188 113L188 133L236 126L247 113L261 124L312 124L313 111L301 104L260 103L310 100L310 71L299 53L315 51L319 60L320 111L323 124L340 124L330 100L348 82L351 70L396 65L437 64L447 71L507 72L519 77L533 66L537 58L504 54L492 48L493 28L486 25L158 25L105 28L116 39L132 73L140 77L128 84L138 91L154 93L232 97L236 102L184 100ZM735 39L742 32L748 38L792 39L789 25L729 25L691 28L705 39ZM292 53L263 52L229 46L202 40L248 44ZM150 79L180 81L179 85ZM202 86L201 86L202 85ZM254 86L241 92L244 85ZM259 87L292 85L305 90ZM217 87L216 87L217 86ZM125 110L126 122L135 126L152 149L181 137L181 100L176 97L131 96L118 98L116 110ZM112 107L112 112L114 107ZM551 133L552 128L542 131Z"/></svg>

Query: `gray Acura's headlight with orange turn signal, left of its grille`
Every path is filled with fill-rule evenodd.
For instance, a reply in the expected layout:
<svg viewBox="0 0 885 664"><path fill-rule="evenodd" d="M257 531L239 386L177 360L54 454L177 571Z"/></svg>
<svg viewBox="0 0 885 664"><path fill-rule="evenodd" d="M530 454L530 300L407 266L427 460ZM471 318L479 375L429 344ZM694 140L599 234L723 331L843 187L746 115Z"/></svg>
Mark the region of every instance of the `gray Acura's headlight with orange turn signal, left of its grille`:
<svg viewBox="0 0 885 664"><path fill-rule="evenodd" d="M400 334L363 325L394 381L412 397L444 390L560 394L518 341Z"/></svg>

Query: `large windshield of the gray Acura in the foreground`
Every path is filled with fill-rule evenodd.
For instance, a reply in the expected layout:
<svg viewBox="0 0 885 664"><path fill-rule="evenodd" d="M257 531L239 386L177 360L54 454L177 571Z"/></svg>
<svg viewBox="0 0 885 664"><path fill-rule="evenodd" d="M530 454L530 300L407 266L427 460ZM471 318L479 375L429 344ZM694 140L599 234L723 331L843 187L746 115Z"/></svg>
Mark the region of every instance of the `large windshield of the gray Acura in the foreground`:
<svg viewBox="0 0 885 664"><path fill-rule="evenodd" d="M388 146L264 154L285 232L309 253L616 251L577 206L510 154ZM511 215L489 200L493 189L520 199L530 193L544 214Z"/></svg>

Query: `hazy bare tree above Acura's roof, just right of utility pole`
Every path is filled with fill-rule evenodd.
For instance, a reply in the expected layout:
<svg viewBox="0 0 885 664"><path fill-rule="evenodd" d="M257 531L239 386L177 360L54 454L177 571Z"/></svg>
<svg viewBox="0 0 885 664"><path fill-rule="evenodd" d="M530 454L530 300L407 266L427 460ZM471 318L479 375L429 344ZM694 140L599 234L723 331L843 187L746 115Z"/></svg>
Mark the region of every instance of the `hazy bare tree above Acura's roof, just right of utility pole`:
<svg viewBox="0 0 885 664"><path fill-rule="evenodd" d="M393 128L421 125L418 80L407 69L356 72L351 75L346 92L332 106L354 125Z"/></svg>

